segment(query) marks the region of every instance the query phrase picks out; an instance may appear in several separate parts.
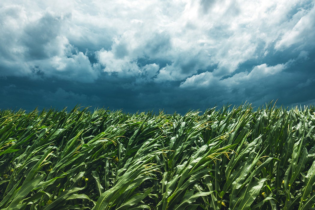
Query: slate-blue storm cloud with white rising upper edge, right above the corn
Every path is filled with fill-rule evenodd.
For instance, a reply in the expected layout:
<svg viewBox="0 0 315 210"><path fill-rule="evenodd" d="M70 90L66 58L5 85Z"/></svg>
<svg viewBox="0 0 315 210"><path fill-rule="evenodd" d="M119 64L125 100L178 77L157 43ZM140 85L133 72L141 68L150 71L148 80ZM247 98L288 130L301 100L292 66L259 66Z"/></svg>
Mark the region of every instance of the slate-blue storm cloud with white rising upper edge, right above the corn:
<svg viewBox="0 0 315 210"><path fill-rule="evenodd" d="M206 97L209 93L203 94L205 88L196 86L203 84L211 93L208 103L217 101L220 105L227 102L240 104L240 99L256 106L274 99L278 99L278 105L291 106L295 101L307 105L315 102L315 93L311 91L315 88L314 64L314 57L312 60L300 57L275 66L263 64L249 67L251 71L236 73L219 82L211 73L204 73L203 77L186 80L181 87L200 91L199 95ZM188 87L189 82L191 85Z"/></svg>

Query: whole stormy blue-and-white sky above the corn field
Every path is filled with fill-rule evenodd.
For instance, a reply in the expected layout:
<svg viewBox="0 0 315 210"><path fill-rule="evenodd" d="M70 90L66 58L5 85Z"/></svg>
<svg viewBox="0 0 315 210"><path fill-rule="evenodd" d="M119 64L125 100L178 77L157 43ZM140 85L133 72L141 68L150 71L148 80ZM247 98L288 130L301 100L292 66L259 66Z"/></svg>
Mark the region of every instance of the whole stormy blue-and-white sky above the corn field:
<svg viewBox="0 0 315 210"><path fill-rule="evenodd" d="M0 109L315 104L315 0L0 3Z"/></svg>

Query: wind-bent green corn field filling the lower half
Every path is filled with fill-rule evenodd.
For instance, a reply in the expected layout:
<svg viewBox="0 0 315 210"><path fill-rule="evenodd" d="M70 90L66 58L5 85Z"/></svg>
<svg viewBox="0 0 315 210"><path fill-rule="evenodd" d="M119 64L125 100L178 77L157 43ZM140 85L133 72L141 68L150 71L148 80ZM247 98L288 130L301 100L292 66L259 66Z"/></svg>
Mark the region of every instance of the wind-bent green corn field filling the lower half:
<svg viewBox="0 0 315 210"><path fill-rule="evenodd" d="M0 111L0 209L315 209L315 113Z"/></svg>

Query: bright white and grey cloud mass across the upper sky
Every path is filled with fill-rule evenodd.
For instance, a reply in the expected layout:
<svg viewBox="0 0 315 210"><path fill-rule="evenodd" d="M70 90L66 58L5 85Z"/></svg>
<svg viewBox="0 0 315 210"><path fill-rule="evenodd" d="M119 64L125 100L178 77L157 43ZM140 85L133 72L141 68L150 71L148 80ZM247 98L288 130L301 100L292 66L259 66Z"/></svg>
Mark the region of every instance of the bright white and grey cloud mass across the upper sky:
<svg viewBox="0 0 315 210"><path fill-rule="evenodd" d="M101 64L119 77L146 78L138 82L187 78L181 87L197 80L204 86L233 75L249 60L266 58L274 45L281 51L294 44L299 51L314 48L315 7L309 0L16 0L0 5L0 59L10 70L1 69L2 75L25 75L39 66L48 76L92 82ZM99 64L89 62L86 50L95 52ZM147 63L141 66L138 59ZM158 60L168 60L167 65ZM281 67L263 65L238 76ZM196 75L209 66L216 66L212 73Z"/></svg>

